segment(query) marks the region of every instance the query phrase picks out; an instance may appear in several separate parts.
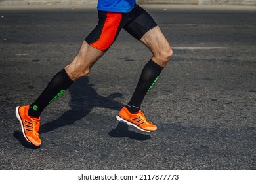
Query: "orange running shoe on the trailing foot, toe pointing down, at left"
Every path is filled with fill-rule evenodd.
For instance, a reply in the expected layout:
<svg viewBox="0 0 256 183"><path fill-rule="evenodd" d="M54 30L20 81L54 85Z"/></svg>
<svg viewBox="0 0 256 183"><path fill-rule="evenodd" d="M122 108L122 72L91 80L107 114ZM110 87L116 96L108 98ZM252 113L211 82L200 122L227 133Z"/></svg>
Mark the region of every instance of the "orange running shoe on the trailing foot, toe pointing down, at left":
<svg viewBox="0 0 256 183"><path fill-rule="evenodd" d="M28 116L29 105L23 105L21 107L16 107L16 117L20 121L22 127L22 133L25 139L34 144L35 146L41 145L41 139L39 138L39 127L40 127L40 117L31 118Z"/></svg>

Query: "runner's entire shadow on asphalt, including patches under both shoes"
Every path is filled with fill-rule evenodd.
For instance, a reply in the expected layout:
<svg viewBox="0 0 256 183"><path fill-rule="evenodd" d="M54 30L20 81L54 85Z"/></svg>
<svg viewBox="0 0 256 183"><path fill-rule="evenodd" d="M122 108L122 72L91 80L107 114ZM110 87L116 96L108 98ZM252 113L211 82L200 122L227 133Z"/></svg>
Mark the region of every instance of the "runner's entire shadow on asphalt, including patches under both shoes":
<svg viewBox="0 0 256 183"><path fill-rule="evenodd" d="M122 103L113 100L122 97L123 94L117 92L108 95L108 97L102 97L98 95L93 86L93 84L89 84L88 76L81 78L70 86L68 90L71 97L69 103L71 110L64 112L60 118L41 125L39 134L54 131L55 129L66 125L71 125L77 120L85 118L94 107L109 108L117 111L123 107ZM111 137L128 137L136 140L147 140L151 138L150 135L129 131L128 125L121 122L119 122L117 127L112 129L108 135ZM19 131L15 131L13 136L26 148L39 148L27 142L26 139L24 139L23 134Z"/></svg>

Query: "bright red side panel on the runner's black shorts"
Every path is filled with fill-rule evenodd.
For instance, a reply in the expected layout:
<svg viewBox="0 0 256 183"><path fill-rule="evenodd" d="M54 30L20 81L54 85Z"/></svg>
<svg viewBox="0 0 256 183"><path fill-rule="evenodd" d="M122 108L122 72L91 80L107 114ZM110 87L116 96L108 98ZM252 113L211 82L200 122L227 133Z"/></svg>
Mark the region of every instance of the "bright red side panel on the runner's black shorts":
<svg viewBox="0 0 256 183"><path fill-rule="evenodd" d="M121 18L121 13L108 12L100 38L98 41L90 45L101 51L108 49L116 38L116 33L121 22Z"/></svg>

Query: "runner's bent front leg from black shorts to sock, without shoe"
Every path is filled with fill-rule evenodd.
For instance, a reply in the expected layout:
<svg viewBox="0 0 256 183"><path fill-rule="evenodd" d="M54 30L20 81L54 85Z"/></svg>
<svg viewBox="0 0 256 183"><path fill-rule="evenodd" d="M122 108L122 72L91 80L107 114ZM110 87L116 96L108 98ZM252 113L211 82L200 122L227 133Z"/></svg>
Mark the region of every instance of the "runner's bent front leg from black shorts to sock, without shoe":
<svg viewBox="0 0 256 183"><path fill-rule="evenodd" d="M143 42L151 50L153 56L142 69L135 92L127 105L129 112L133 113L140 109L146 93L154 86L163 67L167 65L172 56L171 46L153 18L138 5L135 8L137 8L135 19L124 29Z"/></svg>

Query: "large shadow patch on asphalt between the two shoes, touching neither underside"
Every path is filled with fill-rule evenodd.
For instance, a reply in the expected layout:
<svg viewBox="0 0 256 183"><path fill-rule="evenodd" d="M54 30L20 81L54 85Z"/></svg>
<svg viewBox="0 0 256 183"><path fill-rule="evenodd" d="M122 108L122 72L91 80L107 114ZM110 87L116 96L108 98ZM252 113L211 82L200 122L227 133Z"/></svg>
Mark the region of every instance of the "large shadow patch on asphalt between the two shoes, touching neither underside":
<svg viewBox="0 0 256 183"><path fill-rule="evenodd" d="M122 97L121 93L112 93L108 97L98 95L93 88L93 84L89 84L89 77L85 76L75 82L68 89L70 92L70 110L64 112L60 118L41 125L39 133L47 133L58 127L71 125L77 120L85 118L94 107L110 108L112 110L120 110L123 107L122 103L113 99Z"/></svg>

